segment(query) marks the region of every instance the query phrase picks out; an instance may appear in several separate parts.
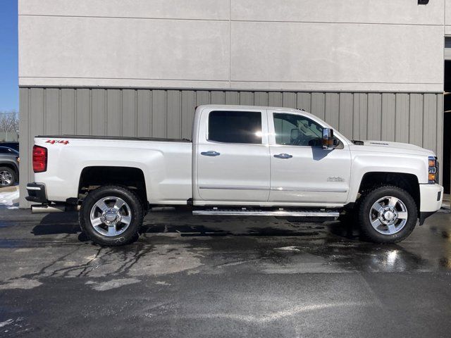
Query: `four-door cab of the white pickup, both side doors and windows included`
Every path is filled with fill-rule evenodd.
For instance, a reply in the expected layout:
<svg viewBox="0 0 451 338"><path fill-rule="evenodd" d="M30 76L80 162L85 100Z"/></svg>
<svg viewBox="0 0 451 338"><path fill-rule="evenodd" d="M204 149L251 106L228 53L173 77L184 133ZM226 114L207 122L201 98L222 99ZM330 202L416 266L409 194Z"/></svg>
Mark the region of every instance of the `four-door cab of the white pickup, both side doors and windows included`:
<svg viewBox="0 0 451 338"><path fill-rule="evenodd" d="M194 205L340 207L350 193L350 144L323 149L330 127L283 108L206 106L194 120Z"/></svg>

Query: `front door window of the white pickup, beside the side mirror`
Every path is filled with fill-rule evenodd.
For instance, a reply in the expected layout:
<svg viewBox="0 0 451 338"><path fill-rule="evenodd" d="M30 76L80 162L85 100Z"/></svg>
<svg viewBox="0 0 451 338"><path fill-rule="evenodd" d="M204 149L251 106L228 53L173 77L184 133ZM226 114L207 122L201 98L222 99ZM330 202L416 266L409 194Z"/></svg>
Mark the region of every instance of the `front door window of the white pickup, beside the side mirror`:
<svg viewBox="0 0 451 338"><path fill-rule="evenodd" d="M276 144L321 146L323 127L302 115L273 113Z"/></svg>

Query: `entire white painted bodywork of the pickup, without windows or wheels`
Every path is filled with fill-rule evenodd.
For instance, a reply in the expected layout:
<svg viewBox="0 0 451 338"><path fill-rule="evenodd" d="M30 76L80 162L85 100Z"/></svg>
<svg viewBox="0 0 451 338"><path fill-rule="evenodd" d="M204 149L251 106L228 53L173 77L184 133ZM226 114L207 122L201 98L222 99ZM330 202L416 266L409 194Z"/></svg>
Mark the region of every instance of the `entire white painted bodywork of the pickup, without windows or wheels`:
<svg viewBox="0 0 451 338"><path fill-rule="evenodd" d="M261 113L261 144L209 140L211 111ZM199 106L194 115L193 141L70 136L36 137L48 149L47 171L35 173L45 184L49 201L77 198L82 170L92 166L142 170L149 204L194 206L314 206L340 208L356 201L366 173L415 175L421 192L420 211L440 208L438 184L428 184L432 151L395 142L357 145L339 132L341 146L276 144L274 113L299 115L331 128L316 116L290 108ZM54 141L53 143L51 141ZM58 141L68 141L58 143ZM215 152L216 155L202 155ZM290 158L277 157L280 154ZM276 156L276 157L275 157Z"/></svg>

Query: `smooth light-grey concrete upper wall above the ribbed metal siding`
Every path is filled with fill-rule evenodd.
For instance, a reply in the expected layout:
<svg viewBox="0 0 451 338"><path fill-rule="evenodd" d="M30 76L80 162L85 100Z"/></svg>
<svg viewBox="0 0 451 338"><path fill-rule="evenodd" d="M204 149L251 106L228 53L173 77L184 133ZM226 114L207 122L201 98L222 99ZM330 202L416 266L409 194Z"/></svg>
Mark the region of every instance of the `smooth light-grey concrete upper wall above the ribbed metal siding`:
<svg viewBox="0 0 451 338"><path fill-rule="evenodd" d="M21 0L23 86L439 92L444 0Z"/></svg>

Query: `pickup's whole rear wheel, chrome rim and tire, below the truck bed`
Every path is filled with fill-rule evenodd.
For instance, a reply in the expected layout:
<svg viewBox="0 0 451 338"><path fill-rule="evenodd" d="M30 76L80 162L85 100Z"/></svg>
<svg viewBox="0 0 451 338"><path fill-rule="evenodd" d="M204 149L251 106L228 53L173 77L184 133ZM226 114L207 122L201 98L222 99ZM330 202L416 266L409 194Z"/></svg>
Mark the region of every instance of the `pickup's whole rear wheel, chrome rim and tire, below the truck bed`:
<svg viewBox="0 0 451 338"><path fill-rule="evenodd" d="M90 192L80 208L80 227L92 242L120 246L134 242L143 219L142 204L125 187L104 186Z"/></svg>

